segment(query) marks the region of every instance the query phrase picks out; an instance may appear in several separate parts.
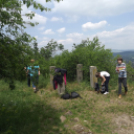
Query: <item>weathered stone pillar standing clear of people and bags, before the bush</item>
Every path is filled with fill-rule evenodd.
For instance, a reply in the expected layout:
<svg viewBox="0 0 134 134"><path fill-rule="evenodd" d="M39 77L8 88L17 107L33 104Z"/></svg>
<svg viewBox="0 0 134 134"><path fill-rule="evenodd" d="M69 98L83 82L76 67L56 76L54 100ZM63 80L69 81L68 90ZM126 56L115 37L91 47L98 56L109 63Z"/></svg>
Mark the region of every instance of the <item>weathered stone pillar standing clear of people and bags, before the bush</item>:
<svg viewBox="0 0 134 134"><path fill-rule="evenodd" d="M77 81L80 83L83 80L83 65L77 64Z"/></svg>

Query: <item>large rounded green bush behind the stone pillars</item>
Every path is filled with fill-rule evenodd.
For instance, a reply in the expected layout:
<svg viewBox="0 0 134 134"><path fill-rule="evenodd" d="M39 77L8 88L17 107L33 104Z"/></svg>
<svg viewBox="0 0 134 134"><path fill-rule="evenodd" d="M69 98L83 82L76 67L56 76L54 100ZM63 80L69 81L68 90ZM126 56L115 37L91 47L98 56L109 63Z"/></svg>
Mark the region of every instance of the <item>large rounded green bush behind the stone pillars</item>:
<svg viewBox="0 0 134 134"><path fill-rule="evenodd" d="M69 80L76 78L76 65L83 64L84 79L89 80L89 66L97 66L98 71L108 71L110 74L115 72L115 61L111 50L101 46L99 39L95 37L92 41L89 39L82 41L81 44L74 44L74 50L67 50L54 58L56 67L66 68L68 70Z"/></svg>

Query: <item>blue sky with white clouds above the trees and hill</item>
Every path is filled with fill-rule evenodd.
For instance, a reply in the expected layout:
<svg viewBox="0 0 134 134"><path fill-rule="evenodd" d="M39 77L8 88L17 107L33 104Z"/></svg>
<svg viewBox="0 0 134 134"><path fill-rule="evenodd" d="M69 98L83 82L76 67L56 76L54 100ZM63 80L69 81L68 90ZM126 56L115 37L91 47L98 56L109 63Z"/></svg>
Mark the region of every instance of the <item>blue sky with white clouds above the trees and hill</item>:
<svg viewBox="0 0 134 134"><path fill-rule="evenodd" d="M22 14L35 12L25 31L35 37L38 47L44 47L54 39L65 49L73 44L98 37L107 49L134 50L134 0L63 0L61 2L37 0L50 12L22 6ZM28 18L23 17L25 21Z"/></svg>

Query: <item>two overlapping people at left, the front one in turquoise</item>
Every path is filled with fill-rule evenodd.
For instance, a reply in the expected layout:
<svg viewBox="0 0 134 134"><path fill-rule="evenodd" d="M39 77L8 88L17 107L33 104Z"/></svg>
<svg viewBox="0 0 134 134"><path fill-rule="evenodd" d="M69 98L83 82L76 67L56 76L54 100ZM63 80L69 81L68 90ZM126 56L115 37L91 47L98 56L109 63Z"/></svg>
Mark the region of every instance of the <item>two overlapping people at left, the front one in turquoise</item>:
<svg viewBox="0 0 134 134"><path fill-rule="evenodd" d="M24 67L24 70L26 71L28 86L30 87L30 84L32 82L33 90L36 93L38 91L37 85L39 81L40 67L34 65L34 62L35 60L31 59L31 66Z"/></svg>

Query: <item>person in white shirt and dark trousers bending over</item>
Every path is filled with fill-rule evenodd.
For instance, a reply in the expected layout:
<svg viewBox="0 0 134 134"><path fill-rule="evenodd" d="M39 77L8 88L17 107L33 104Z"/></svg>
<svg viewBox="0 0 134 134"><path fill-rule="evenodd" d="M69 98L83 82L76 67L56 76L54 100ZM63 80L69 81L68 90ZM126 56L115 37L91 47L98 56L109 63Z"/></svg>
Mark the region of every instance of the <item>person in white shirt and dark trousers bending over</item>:
<svg viewBox="0 0 134 134"><path fill-rule="evenodd" d="M105 86L105 92L104 94L109 94L108 84L110 80L110 74L106 71L101 71L96 73L97 78L101 78L101 86Z"/></svg>

